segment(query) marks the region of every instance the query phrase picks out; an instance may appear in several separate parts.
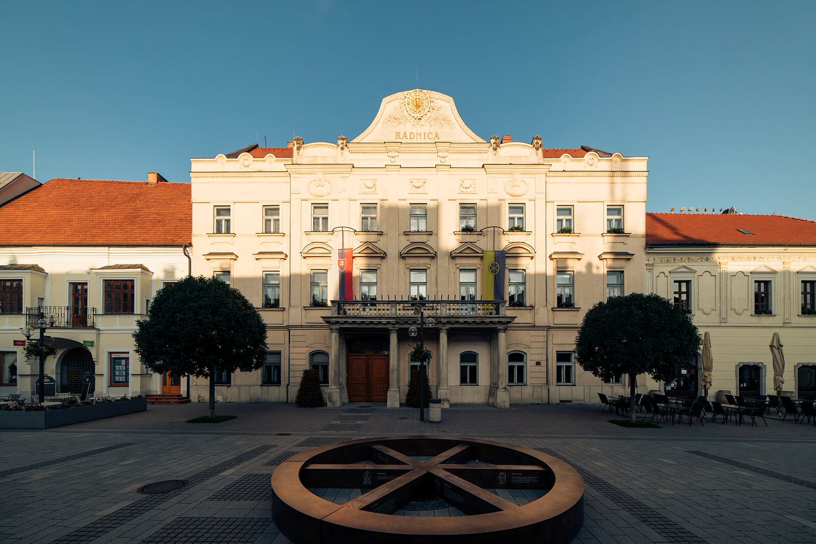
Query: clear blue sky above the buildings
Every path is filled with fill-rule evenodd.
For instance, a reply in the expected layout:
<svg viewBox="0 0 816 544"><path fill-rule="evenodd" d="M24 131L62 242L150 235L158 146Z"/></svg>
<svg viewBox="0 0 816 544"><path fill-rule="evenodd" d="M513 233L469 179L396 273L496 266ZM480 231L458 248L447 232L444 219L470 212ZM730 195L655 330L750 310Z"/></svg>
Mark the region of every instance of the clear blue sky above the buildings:
<svg viewBox="0 0 816 544"><path fill-rule="evenodd" d="M349 5L352 4L352 5ZM816 2L3 2L0 170L188 181L452 95L483 138L650 157L649 209L816 219Z"/></svg>

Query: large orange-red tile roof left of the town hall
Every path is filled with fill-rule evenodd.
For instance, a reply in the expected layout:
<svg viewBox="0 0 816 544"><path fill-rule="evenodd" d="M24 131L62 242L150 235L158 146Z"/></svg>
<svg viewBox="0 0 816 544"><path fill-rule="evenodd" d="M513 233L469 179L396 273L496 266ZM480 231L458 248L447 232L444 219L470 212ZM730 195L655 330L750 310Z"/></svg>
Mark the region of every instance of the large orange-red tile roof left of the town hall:
<svg viewBox="0 0 816 544"><path fill-rule="evenodd" d="M190 184L51 179L0 206L0 245L184 245Z"/></svg>

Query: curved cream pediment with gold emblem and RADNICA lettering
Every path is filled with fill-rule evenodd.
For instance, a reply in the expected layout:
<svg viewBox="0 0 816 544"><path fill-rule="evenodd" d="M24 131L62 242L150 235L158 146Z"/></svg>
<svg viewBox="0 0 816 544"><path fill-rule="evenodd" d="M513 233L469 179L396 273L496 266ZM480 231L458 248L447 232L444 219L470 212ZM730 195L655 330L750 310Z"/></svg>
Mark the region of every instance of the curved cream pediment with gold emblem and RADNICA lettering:
<svg viewBox="0 0 816 544"><path fill-rule="evenodd" d="M424 89L386 96L374 121L352 143L394 141L486 143L464 124L450 96Z"/></svg>

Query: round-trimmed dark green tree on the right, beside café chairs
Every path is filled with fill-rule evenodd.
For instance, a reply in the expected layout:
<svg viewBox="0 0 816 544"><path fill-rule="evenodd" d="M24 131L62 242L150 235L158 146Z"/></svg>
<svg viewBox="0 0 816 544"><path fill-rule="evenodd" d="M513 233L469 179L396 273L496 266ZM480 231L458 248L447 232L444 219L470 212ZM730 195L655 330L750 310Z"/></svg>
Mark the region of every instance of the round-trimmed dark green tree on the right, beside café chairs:
<svg viewBox="0 0 816 544"><path fill-rule="evenodd" d="M598 378L628 375L629 419L635 422L637 375L667 381L699 346L700 334L689 313L657 294L632 293L589 309L575 338L575 357Z"/></svg>

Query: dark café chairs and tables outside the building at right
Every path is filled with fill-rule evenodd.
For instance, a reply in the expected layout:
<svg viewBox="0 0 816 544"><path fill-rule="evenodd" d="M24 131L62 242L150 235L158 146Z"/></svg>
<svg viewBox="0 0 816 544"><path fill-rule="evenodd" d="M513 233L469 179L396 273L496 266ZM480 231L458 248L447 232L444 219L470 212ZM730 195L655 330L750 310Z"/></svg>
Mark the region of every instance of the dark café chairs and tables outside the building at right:
<svg viewBox="0 0 816 544"><path fill-rule="evenodd" d="M734 422L735 425L742 425L743 422L750 422L752 426L757 426L757 420L761 420L765 427L768 422L767 416L774 415L781 421L786 421L790 416L794 423L807 422L816 427L816 402L813 399L794 399L790 396L765 395L760 397L733 396L725 393L725 402L721 400L709 400L705 396L698 396L696 399L680 396L667 396L662 393L652 393L635 396L635 409L641 419L650 423L686 422L691 425L698 422L705 425L706 422L717 422L725 424ZM610 414L628 416L632 406L632 397L619 395L610 398L603 393L598 393L601 411L608 411ZM775 412L775 414L774 414Z"/></svg>

